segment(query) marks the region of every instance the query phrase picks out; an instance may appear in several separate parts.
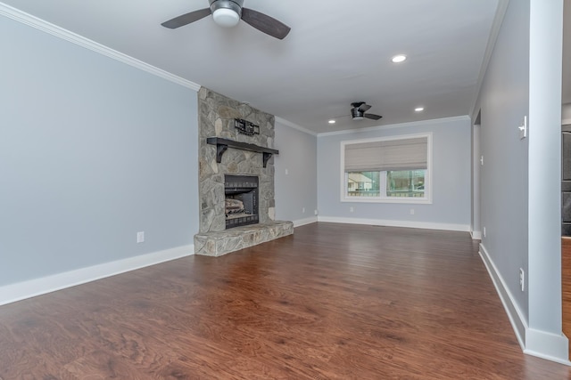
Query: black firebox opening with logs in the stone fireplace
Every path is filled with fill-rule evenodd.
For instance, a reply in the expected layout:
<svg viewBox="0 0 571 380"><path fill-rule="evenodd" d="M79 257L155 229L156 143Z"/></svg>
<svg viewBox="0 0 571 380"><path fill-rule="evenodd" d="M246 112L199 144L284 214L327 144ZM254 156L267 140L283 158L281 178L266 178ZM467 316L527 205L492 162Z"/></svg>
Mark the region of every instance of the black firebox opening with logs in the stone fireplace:
<svg viewBox="0 0 571 380"><path fill-rule="evenodd" d="M255 175L224 175L226 229L256 224L259 179Z"/></svg>

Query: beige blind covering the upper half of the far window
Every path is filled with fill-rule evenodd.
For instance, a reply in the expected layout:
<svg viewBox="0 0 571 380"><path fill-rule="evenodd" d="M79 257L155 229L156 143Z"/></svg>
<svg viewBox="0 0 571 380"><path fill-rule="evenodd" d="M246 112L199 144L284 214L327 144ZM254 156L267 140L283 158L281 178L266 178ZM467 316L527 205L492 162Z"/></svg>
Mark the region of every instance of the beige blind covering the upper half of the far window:
<svg viewBox="0 0 571 380"><path fill-rule="evenodd" d="M345 172L426 169L428 138L345 145Z"/></svg>

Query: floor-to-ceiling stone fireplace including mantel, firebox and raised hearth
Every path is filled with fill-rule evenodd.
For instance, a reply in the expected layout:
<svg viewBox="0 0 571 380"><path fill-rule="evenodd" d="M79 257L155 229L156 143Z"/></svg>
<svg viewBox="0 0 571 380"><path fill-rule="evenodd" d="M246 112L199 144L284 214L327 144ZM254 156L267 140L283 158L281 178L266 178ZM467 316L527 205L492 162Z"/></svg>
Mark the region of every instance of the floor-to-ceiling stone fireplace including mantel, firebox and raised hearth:
<svg viewBox="0 0 571 380"><path fill-rule="evenodd" d="M244 124L255 125L255 133L241 131ZM225 255L292 234L292 222L274 220L274 117L202 87L198 126L200 231L194 253Z"/></svg>

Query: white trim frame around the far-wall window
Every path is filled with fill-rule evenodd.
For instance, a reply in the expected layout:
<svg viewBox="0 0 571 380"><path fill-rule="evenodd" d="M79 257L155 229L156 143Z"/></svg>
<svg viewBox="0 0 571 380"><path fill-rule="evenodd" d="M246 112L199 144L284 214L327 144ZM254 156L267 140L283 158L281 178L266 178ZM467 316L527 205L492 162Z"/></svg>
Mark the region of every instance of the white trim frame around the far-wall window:
<svg viewBox="0 0 571 380"><path fill-rule="evenodd" d="M377 142L377 141L394 141L394 140L408 140L414 138L426 138L426 176L425 176L425 196L420 197L351 197L347 194L347 174L345 173L345 146L351 144L360 144L364 142ZM341 182L341 202L359 202L359 203L393 203L393 204L432 204L433 195L433 167L432 167L432 151L433 141L432 133L414 133L414 134L399 134L394 136L373 137L360 140L346 140L341 141L341 162L340 162L340 182ZM385 172L386 173L386 172ZM383 177L383 176L381 176ZM385 179L381 182L385 183ZM386 192L386 186L385 190ZM381 192L383 190L381 189Z"/></svg>

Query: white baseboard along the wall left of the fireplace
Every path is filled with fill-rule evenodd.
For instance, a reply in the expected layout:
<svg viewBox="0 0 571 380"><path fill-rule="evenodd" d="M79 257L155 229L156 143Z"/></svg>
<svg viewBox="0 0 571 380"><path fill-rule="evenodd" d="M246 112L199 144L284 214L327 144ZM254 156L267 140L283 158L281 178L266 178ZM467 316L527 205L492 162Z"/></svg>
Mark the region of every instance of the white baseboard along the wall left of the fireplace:
<svg viewBox="0 0 571 380"><path fill-rule="evenodd" d="M111 263L102 263L75 271L46 276L40 279L29 279L15 284L0 287L0 305L14 303L37 295L45 295L66 287L75 287L97 279L104 279L116 274L134 271L146 266L168 262L181 257L194 255L194 245L165 249L146 255L138 255Z"/></svg>

